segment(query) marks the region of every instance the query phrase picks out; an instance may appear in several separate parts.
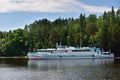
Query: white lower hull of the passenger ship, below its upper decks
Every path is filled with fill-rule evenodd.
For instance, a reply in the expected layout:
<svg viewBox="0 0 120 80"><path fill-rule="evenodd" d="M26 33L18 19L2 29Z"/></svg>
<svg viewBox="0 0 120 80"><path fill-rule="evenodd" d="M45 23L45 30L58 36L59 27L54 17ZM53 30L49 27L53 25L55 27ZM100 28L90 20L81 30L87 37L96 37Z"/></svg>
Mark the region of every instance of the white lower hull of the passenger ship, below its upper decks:
<svg viewBox="0 0 120 80"><path fill-rule="evenodd" d="M29 53L28 58L32 60L40 59L79 59L79 58L114 58L113 54L98 54L98 53L84 53L84 54L40 54Z"/></svg>

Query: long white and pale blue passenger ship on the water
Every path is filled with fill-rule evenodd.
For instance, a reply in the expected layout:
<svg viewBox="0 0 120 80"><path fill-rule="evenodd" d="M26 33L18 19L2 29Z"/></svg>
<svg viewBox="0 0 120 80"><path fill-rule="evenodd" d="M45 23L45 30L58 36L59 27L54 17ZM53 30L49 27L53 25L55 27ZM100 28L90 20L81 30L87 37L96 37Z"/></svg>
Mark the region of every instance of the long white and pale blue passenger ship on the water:
<svg viewBox="0 0 120 80"><path fill-rule="evenodd" d="M79 59L79 58L114 58L110 52L102 52L96 47L61 47L38 49L37 52L28 52L30 60L48 59Z"/></svg>

